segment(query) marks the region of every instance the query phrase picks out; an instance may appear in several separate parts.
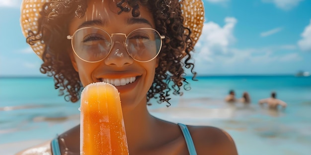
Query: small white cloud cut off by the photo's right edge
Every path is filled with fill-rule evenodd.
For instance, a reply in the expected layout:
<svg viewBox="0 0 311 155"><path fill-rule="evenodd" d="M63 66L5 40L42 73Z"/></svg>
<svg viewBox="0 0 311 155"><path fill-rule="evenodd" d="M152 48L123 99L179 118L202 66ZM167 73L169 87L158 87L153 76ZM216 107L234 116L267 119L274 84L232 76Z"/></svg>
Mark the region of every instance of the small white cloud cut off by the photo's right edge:
<svg viewBox="0 0 311 155"><path fill-rule="evenodd" d="M302 39L298 41L298 46L302 51L311 51L311 19L310 24L306 26L301 34Z"/></svg>

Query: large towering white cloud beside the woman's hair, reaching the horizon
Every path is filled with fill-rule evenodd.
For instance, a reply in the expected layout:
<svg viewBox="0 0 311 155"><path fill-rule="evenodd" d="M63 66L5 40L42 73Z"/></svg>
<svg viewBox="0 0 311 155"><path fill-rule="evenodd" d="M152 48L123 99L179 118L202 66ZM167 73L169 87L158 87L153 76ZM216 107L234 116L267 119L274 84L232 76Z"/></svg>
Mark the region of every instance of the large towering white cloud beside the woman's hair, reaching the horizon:
<svg viewBox="0 0 311 155"><path fill-rule="evenodd" d="M258 74L275 72L278 66L303 59L296 52L297 45L286 44L262 48L238 49L234 28L237 19L225 18L225 25L209 21L204 23L202 35L196 44L193 58L194 70L205 74ZM271 67L271 66L274 66ZM286 68L279 72L291 72Z"/></svg>

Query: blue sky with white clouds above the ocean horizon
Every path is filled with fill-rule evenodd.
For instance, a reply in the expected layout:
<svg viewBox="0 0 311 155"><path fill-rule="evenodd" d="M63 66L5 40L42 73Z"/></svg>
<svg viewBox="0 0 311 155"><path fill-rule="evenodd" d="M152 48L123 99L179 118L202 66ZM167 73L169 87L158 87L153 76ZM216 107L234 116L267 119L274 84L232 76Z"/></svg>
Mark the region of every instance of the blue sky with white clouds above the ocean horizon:
<svg viewBox="0 0 311 155"><path fill-rule="evenodd" d="M311 0L203 1L198 75L311 72ZM0 76L42 76L21 33L20 3L0 0Z"/></svg>

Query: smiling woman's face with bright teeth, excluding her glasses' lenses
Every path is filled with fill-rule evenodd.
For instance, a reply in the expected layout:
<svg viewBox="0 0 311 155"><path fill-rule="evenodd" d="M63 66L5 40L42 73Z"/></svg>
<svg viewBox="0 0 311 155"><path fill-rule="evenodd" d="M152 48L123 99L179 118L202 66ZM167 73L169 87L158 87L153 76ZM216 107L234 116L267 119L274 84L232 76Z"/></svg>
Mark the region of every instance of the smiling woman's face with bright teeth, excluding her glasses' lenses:
<svg viewBox="0 0 311 155"><path fill-rule="evenodd" d="M138 28L155 28L152 13L146 7L140 5L138 17L133 17L132 11L118 14L119 10L112 0L88 0L83 18L75 17L71 21L70 35L82 27L100 28L108 35L113 33L128 35ZM71 54L82 85L99 81L115 85L120 92L123 109L137 106L138 103L146 103L146 94L153 83L157 66L156 59L149 62L134 60L127 53L124 41L124 35L119 35L117 40L114 39L110 53L99 62L86 62L74 52Z"/></svg>

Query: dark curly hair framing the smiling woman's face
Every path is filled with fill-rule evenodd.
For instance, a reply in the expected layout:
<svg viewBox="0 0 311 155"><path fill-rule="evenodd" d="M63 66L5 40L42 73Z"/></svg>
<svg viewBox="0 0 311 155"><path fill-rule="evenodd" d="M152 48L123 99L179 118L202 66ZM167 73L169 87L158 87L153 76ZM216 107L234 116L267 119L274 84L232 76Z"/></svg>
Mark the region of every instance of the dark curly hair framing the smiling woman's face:
<svg viewBox="0 0 311 155"><path fill-rule="evenodd" d="M131 8L124 6L124 3ZM140 14L139 4L149 8L156 30L165 36L158 54L159 65L154 81L147 93L147 102L151 104L150 99L155 98L157 103L166 102L169 106L171 91L174 95L182 95L182 85L185 90L190 89L186 87L188 82L183 67L191 70L192 80L196 75L194 64L190 62L190 52L193 51L191 31L183 26L178 0L120 0L116 5L120 9L119 14L131 11L132 16L137 17ZM79 100L83 86L68 53L71 42L63 37L69 34L69 23L64 21L70 21L75 16L81 18L86 8L87 0L51 0L45 3L38 19L38 31L30 31L27 38L28 44L35 41L45 44L40 71L54 77L55 89L59 89L60 95L65 95L66 101L73 103ZM38 37L38 34L41 35Z"/></svg>

